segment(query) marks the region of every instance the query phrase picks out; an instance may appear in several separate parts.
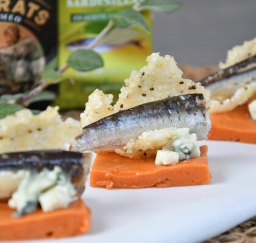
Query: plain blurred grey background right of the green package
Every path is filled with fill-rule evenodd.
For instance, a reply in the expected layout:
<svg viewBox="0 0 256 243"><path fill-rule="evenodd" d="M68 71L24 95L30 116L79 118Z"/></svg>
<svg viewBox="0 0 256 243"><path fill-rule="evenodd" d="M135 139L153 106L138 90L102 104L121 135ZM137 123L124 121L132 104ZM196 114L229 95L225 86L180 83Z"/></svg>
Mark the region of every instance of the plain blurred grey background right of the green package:
<svg viewBox="0 0 256 243"><path fill-rule="evenodd" d="M174 13L154 13L154 52L178 64L215 66L227 50L256 36L255 0L180 0Z"/></svg>

